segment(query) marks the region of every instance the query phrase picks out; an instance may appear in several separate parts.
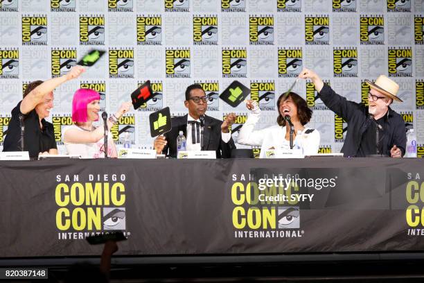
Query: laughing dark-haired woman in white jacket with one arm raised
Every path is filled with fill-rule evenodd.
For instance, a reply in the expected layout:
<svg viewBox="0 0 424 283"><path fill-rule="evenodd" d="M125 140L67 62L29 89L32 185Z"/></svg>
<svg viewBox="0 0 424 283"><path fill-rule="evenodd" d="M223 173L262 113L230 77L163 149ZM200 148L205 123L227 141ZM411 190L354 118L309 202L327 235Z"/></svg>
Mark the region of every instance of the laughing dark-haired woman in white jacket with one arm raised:
<svg viewBox="0 0 424 283"><path fill-rule="evenodd" d="M238 134L238 144L260 146L260 158L265 157L265 151L272 148L282 148L290 151L290 126L284 117L290 116L294 125L294 145L300 148L303 155L314 155L319 149L319 132L315 129L306 128L306 123L312 117L312 110L308 108L306 101L298 94L290 92L283 100L281 94L276 105L279 110L277 117L278 125L270 126L262 130L254 130L260 118L260 108L256 101L247 101L247 109L251 110L247 121Z"/></svg>

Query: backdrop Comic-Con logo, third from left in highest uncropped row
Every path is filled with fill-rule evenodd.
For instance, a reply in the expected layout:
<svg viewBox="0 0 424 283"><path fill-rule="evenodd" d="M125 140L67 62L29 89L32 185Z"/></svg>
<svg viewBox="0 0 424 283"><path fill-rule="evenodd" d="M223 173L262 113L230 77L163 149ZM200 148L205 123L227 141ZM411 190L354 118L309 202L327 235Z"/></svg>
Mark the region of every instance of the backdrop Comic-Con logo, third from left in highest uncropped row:
<svg viewBox="0 0 424 283"><path fill-rule="evenodd" d="M137 22L137 45L162 44L162 18L157 15L139 16Z"/></svg>

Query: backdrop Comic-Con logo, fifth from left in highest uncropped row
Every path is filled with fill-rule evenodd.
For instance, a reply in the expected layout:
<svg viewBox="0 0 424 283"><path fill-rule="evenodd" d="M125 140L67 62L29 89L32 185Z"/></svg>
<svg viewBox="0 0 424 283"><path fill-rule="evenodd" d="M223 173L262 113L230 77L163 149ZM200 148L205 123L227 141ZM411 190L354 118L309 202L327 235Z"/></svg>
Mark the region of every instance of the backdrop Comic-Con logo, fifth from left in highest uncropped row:
<svg viewBox="0 0 424 283"><path fill-rule="evenodd" d="M249 17L251 45L274 44L274 17Z"/></svg>

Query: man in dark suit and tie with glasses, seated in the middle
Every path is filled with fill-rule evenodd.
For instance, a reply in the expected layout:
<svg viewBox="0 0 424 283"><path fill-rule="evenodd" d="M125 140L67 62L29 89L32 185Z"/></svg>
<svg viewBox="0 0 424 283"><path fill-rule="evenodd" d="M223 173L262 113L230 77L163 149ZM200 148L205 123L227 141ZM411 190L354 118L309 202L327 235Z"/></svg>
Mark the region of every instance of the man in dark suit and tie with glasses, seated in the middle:
<svg viewBox="0 0 424 283"><path fill-rule="evenodd" d="M224 122L206 116L208 97L201 85L190 85L186 89L188 114L173 117L173 128L165 135L154 139L154 149L170 157L177 157L177 137L181 130L186 137L187 151L216 151L217 158L231 157L231 150L236 148L231 138L229 127L236 120L236 114L229 114ZM202 135L203 128L203 135Z"/></svg>

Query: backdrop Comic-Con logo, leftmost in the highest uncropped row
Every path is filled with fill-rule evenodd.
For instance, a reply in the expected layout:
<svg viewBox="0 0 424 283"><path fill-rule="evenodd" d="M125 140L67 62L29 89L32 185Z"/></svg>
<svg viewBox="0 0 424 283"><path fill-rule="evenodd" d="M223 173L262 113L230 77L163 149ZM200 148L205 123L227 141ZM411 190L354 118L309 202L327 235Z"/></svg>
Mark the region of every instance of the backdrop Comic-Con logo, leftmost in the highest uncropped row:
<svg viewBox="0 0 424 283"><path fill-rule="evenodd" d="M47 45L47 16L22 17L22 45Z"/></svg>

